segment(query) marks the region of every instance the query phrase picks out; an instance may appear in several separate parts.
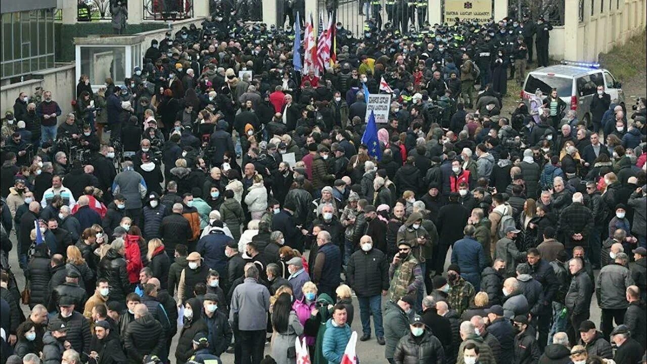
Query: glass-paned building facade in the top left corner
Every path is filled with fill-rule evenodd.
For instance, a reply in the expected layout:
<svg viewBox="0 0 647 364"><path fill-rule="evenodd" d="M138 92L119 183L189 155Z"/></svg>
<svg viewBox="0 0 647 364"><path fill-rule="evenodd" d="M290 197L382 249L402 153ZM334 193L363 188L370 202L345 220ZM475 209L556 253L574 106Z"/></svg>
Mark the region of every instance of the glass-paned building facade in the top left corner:
<svg viewBox="0 0 647 364"><path fill-rule="evenodd" d="M0 78L54 67L54 10L2 14Z"/></svg>

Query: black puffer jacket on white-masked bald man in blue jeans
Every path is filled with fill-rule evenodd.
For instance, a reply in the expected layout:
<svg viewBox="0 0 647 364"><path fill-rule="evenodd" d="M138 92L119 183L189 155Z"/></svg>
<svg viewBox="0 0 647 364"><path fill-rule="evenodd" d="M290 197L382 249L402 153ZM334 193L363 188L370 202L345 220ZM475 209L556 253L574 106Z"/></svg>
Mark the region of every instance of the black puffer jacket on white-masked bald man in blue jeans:
<svg viewBox="0 0 647 364"><path fill-rule="evenodd" d="M358 297L379 295L389 289L389 264L379 249L358 250L350 256L346 268L347 283Z"/></svg>

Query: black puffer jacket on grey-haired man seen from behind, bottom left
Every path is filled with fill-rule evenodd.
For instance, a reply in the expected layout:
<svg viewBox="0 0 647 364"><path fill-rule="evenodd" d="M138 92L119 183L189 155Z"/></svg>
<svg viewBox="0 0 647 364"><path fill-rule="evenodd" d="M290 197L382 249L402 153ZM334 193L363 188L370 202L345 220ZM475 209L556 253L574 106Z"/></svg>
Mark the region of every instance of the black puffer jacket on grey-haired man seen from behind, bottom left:
<svg viewBox="0 0 647 364"><path fill-rule="evenodd" d="M153 354L159 358L166 358L166 334L162 325L146 314L128 324L124 336L124 348L129 363L140 364L144 356Z"/></svg>

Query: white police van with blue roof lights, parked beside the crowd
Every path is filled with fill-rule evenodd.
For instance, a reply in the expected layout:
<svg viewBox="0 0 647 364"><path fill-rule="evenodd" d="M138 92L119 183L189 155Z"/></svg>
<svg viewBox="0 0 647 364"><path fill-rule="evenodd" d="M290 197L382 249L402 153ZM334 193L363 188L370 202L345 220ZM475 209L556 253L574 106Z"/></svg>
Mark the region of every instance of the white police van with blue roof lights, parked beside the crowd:
<svg viewBox="0 0 647 364"><path fill-rule="evenodd" d="M622 85L606 69L601 69L599 63L563 61L559 65L541 67L526 75L521 98L528 103L537 89L542 90L543 96L550 95L552 89L557 89L557 95L575 110L578 120L584 120L591 125L591 99L597 93L597 86L604 85L604 91L617 98L624 105Z"/></svg>

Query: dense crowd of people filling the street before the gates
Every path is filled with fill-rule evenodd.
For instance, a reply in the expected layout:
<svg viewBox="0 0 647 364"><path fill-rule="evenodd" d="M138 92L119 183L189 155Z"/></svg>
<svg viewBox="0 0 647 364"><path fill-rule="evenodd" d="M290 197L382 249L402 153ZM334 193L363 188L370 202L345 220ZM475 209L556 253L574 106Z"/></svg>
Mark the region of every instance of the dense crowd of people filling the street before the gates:
<svg viewBox="0 0 647 364"><path fill-rule="evenodd" d="M523 24L338 23L334 67L301 76L293 34L217 12L153 40L124 84L83 75L65 117L20 93L1 130L2 363L294 364L300 337L339 364L355 310L358 345L391 364L644 363L645 99L632 113L599 85L587 125L538 90L537 113L504 116Z"/></svg>

